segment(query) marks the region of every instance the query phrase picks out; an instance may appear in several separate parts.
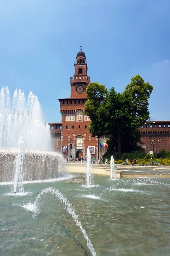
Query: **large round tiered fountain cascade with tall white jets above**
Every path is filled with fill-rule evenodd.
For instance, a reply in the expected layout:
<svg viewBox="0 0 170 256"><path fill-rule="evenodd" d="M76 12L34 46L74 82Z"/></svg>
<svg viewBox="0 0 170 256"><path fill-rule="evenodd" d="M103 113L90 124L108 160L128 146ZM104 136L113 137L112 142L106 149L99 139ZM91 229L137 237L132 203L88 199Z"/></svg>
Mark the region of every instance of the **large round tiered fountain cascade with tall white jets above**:
<svg viewBox="0 0 170 256"><path fill-rule="evenodd" d="M0 91L0 182L14 180L23 192L23 180L44 180L58 176L65 164L61 154L50 152L49 125L42 122L40 102L21 90L10 99L8 87ZM15 171L14 171L15 170ZM14 174L15 173L15 174Z"/></svg>

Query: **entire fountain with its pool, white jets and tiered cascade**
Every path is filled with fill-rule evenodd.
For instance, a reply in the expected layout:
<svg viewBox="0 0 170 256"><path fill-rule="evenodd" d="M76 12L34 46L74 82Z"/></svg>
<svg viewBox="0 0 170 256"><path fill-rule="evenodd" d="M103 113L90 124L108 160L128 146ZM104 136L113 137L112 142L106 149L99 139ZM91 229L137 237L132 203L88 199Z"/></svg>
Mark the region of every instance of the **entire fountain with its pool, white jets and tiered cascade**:
<svg viewBox="0 0 170 256"><path fill-rule="evenodd" d="M48 151L49 126L41 118L32 93L26 103L15 91L11 107L8 88L1 90L0 255L169 255L170 179L115 181L112 157L108 186L107 176L93 175L88 149L87 186L54 183L64 161ZM8 192L11 180L19 193Z"/></svg>

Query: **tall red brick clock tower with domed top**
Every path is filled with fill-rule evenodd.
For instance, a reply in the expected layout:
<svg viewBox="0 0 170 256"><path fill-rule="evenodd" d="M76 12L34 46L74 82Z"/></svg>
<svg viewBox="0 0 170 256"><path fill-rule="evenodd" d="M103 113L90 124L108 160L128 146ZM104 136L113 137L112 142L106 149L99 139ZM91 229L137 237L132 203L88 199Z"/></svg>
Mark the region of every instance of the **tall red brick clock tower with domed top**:
<svg viewBox="0 0 170 256"><path fill-rule="evenodd" d="M89 147L91 156L98 159L98 138L91 137L88 130L91 121L84 114L84 105L88 99L86 88L90 83L90 76L87 76L88 66L82 46L76 59L74 78L70 78L71 96L59 99L62 115L62 153L66 157L85 158Z"/></svg>

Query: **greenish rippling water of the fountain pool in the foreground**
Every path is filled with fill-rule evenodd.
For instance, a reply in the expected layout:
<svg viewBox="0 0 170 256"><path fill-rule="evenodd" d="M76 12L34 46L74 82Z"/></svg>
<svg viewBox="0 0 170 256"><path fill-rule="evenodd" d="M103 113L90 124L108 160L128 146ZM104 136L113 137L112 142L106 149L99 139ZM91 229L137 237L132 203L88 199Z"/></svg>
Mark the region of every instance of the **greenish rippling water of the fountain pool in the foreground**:
<svg viewBox="0 0 170 256"><path fill-rule="evenodd" d="M63 179L31 181L24 184L24 196L9 194L11 185L0 183L0 255L92 255L65 204L54 194L40 195L50 187L70 201L97 256L169 255L169 178L94 175L94 183L87 188Z"/></svg>

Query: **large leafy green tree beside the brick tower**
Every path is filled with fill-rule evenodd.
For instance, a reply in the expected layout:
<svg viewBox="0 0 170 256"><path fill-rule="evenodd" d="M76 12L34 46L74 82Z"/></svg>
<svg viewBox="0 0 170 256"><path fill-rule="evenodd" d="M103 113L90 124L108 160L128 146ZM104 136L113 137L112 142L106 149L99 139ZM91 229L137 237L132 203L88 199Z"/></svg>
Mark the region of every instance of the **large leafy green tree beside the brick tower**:
<svg viewBox="0 0 170 256"><path fill-rule="evenodd" d="M86 92L85 114L91 119L92 136L107 136L111 151L132 151L140 142L139 126L149 117L148 99L153 87L139 75L131 79L123 93L114 87L107 90L103 84L91 82Z"/></svg>

